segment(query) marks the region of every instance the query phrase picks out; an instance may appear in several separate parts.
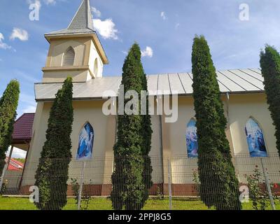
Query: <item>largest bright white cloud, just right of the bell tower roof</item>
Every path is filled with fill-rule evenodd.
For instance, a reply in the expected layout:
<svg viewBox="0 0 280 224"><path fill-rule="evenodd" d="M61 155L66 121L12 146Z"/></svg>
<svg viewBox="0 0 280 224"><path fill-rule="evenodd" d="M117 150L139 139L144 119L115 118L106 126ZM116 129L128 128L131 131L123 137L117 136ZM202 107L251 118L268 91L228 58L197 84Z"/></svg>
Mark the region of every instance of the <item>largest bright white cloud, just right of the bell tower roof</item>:
<svg viewBox="0 0 280 224"><path fill-rule="evenodd" d="M94 19L93 26L104 39L118 40L118 29L115 29L116 25L113 23L112 19L106 19L103 21Z"/></svg>

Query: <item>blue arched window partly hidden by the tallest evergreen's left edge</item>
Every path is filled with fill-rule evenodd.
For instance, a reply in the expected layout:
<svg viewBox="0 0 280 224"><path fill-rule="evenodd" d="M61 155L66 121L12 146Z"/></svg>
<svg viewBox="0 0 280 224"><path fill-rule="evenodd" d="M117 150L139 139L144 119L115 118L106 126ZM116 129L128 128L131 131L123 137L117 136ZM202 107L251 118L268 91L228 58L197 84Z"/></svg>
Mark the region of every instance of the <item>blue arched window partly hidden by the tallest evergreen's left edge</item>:
<svg viewBox="0 0 280 224"><path fill-rule="evenodd" d="M186 130L188 158L198 157L197 127L194 118L190 119Z"/></svg>

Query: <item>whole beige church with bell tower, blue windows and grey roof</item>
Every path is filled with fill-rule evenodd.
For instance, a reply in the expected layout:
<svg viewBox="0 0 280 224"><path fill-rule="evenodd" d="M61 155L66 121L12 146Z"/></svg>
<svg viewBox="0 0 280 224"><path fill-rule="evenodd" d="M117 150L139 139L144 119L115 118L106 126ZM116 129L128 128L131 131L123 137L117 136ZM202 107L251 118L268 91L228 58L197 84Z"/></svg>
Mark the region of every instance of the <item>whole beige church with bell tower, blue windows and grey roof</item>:
<svg viewBox="0 0 280 224"><path fill-rule="evenodd" d="M83 161L87 162L85 181L90 181L96 195L109 195L113 172L113 145L116 142L116 115L105 115L102 107L109 97L117 97L121 76L103 76L103 67L109 64L102 43L92 25L90 1L83 0L69 27L45 34L50 43L43 67L41 83L35 83L37 102L32 128L32 140L27 156L22 188L34 184L36 165L45 142L45 131L55 94L64 79L73 78L73 132L71 134L73 160L69 176L80 175ZM217 71L225 117L226 134L237 176L244 183L244 172L267 165L276 155L275 128L266 103L260 69ZM168 183L168 167L172 189L177 195L193 192L193 170L197 169L197 139L193 106L192 73L167 73L147 76L148 90L155 96L178 96L178 119L167 123L168 115L152 116L153 183ZM113 99L112 98L112 99ZM211 133L209 133L211 134ZM267 166L272 172L274 166ZM276 178L276 177L275 177ZM275 179L275 182L279 182Z"/></svg>

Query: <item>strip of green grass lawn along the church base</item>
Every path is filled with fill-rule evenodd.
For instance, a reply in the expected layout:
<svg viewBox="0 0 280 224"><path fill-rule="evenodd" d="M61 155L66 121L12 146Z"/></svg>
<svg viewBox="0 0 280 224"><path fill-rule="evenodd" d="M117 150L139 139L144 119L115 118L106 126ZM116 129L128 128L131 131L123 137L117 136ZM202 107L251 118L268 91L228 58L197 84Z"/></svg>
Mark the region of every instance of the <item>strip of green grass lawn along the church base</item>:
<svg viewBox="0 0 280 224"><path fill-rule="evenodd" d="M96 197L90 201L88 210L111 210L111 200L107 198ZM172 200L173 210L208 210L200 200L191 200L187 198L174 198ZM251 203L243 204L244 210L251 210ZM267 209L270 209L268 206ZM276 202L276 209L280 210L279 202ZM34 204L29 202L28 198L23 197L0 197L0 210L36 210ZM75 200L68 199L64 210L76 210ZM169 200L150 199L144 210L169 210Z"/></svg>

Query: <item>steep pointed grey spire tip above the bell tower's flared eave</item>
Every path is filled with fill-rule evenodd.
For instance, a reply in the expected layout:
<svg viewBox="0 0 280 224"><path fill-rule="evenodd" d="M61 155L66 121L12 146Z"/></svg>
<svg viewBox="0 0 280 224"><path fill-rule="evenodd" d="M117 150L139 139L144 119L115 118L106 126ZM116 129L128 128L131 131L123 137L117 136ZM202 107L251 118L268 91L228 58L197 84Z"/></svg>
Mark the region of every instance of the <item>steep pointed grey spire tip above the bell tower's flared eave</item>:
<svg viewBox="0 0 280 224"><path fill-rule="evenodd" d="M83 0L74 15L68 29L92 29L92 13L90 8L90 0Z"/></svg>

